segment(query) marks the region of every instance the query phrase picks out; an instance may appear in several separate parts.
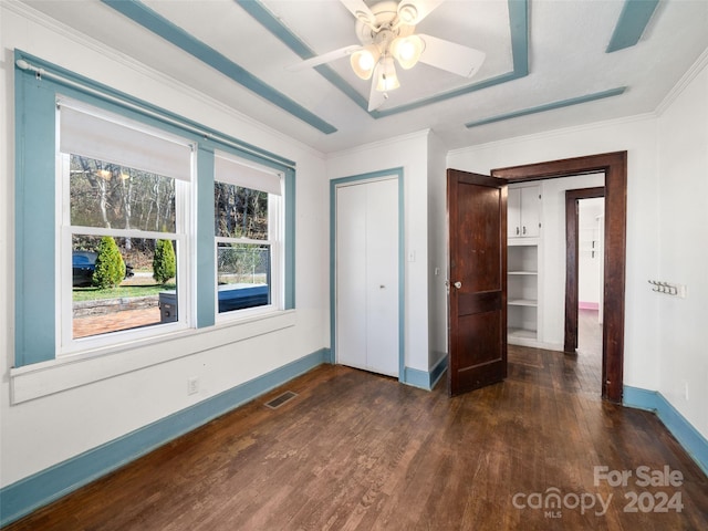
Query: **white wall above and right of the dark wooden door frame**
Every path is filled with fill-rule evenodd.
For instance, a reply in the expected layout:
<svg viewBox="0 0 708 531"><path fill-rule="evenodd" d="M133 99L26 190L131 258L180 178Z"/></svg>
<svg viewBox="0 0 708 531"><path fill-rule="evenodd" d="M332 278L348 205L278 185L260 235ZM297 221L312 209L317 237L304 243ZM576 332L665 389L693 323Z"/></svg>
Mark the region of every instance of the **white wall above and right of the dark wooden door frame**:
<svg viewBox="0 0 708 531"><path fill-rule="evenodd" d="M653 115L637 116L448 154L451 168L489 174L492 168L628 152L624 383L646 389L659 384L658 301L646 289L646 280L658 271L656 122Z"/></svg>

